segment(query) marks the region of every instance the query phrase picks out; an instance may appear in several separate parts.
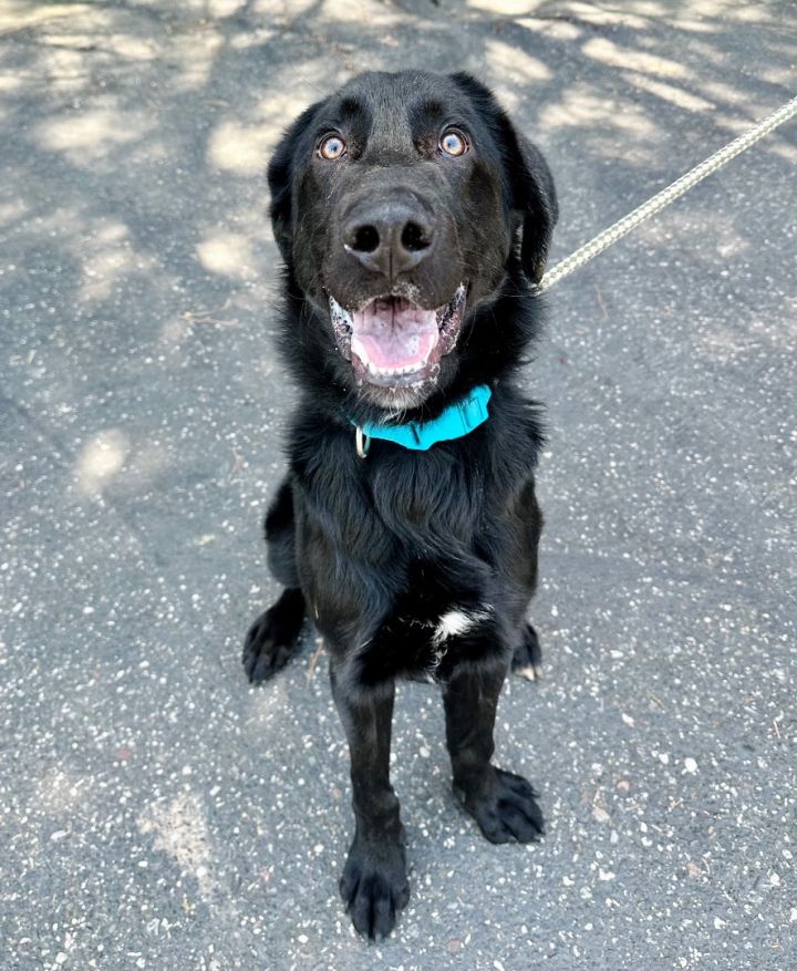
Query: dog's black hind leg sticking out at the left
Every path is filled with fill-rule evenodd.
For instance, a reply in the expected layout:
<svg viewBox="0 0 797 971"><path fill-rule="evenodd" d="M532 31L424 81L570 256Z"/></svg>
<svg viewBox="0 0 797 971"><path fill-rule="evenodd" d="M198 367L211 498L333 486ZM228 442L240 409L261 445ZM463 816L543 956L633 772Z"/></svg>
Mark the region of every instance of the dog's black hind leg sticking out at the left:
<svg viewBox="0 0 797 971"><path fill-rule="evenodd" d="M252 684L266 681L296 652L304 620L304 597L296 567L293 495L286 479L266 516L266 543L271 572L284 583L279 600L249 628L244 643L244 670Z"/></svg>

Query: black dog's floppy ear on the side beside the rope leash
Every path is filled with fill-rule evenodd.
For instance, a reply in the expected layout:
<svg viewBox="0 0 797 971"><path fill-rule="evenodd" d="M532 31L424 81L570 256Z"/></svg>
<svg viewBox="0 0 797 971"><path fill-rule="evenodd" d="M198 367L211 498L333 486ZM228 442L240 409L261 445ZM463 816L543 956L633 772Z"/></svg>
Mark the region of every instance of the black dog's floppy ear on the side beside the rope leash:
<svg viewBox="0 0 797 971"><path fill-rule="evenodd" d="M452 80L468 95L500 146L509 204L522 226L520 265L526 276L539 283L559 217L553 177L548 164L539 148L515 128L493 93L480 81L465 72L452 74Z"/></svg>

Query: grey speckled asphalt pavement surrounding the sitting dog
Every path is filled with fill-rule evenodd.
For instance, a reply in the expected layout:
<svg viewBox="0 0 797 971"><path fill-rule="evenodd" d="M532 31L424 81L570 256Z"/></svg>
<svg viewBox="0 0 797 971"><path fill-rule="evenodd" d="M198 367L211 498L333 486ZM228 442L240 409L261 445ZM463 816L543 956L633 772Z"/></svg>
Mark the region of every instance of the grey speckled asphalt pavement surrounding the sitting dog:
<svg viewBox="0 0 797 971"><path fill-rule="evenodd" d="M403 688L413 896L364 944L323 658L239 665L276 593L284 124L366 68L475 71L551 163L556 261L796 63L787 0L0 4L3 968L797 967L797 124L550 295L546 678L498 733L542 843L480 838Z"/></svg>

